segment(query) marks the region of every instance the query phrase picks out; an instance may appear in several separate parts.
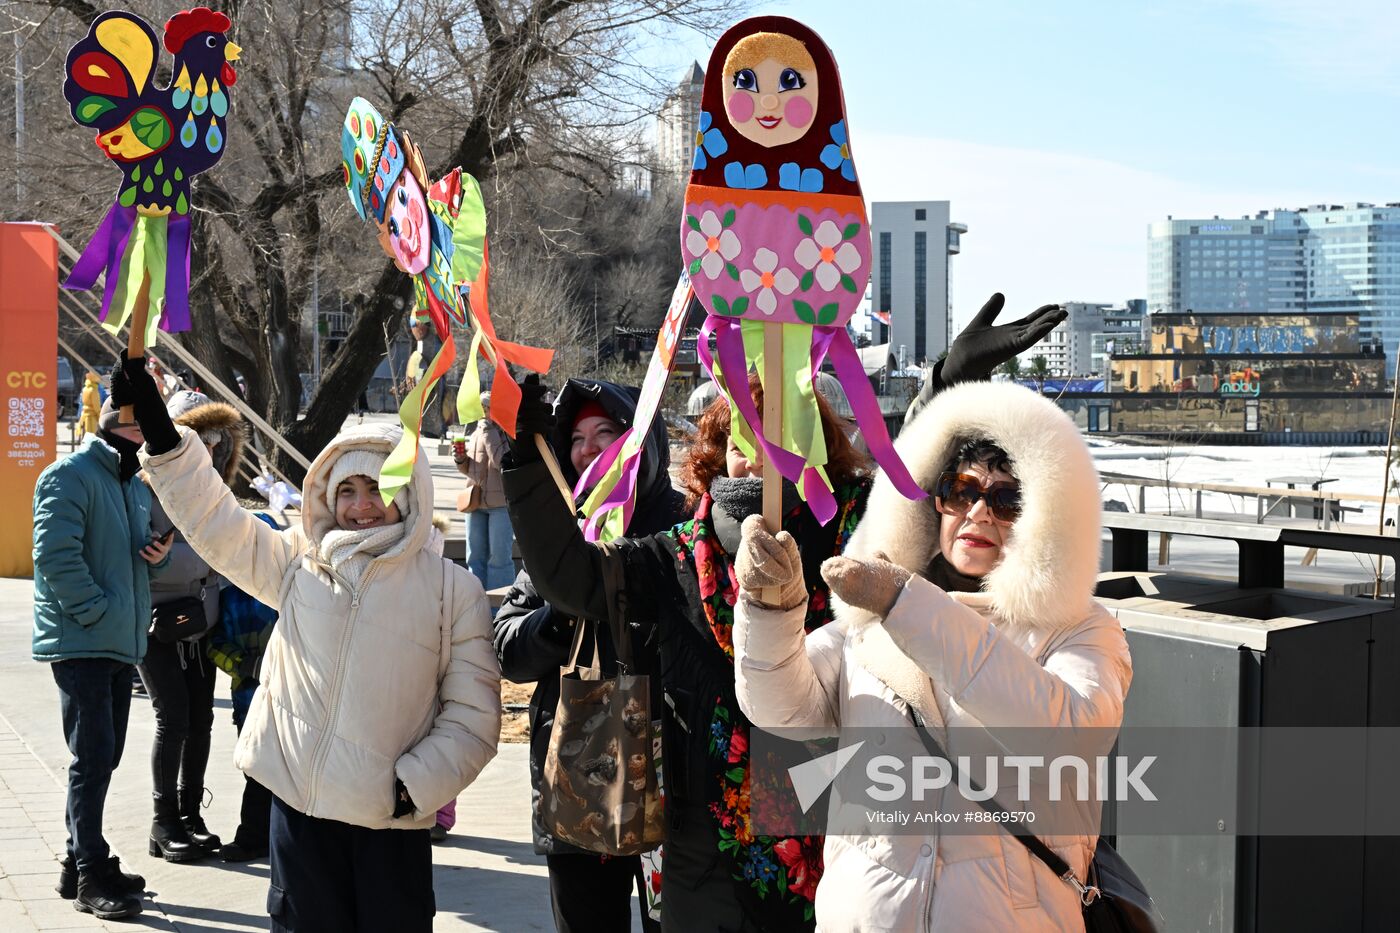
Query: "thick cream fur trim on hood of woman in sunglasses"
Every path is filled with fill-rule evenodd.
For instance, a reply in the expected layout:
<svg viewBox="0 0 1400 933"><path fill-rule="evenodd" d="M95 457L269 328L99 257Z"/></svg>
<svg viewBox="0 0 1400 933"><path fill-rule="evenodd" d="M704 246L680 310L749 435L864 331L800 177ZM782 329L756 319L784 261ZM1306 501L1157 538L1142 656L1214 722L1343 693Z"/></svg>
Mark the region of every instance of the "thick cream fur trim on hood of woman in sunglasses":
<svg viewBox="0 0 1400 933"><path fill-rule="evenodd" d="M1070 417L1012 382L966 382L941 392L900 431L895 448L921 489L932 490L948 459L972 440L990 440L1021 481L1021 518L1001 563L983 580L986 605L1016 628L1060 629L1084 618L1099 574L1099 475ZM932 499L904 499L881 474L848 556L883 551L913 573L938 553L941 514ZM962 594L958 594L962 595ZM843 618L865 615L840 607Z"/></svg>

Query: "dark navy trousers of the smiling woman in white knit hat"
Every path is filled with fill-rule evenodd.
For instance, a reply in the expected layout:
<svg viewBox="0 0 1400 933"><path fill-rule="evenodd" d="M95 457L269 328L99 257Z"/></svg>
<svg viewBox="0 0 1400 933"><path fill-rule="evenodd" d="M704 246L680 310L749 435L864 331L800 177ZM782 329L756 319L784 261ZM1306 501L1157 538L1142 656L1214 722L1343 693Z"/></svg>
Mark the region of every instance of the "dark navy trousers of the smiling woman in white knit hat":
<svg viewBox="0 0 1400 933"><path fill-rule="evenodd" d="M427 829L365 829L272 800L272 933L430 933Z"/></svg>

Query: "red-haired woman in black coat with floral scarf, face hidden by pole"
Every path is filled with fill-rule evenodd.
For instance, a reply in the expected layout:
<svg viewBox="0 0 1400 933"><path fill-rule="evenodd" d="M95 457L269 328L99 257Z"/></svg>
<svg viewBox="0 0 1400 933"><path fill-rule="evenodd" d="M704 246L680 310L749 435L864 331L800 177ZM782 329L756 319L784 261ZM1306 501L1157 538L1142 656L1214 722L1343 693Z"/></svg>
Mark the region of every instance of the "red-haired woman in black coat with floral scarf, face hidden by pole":
<svg viewBox="0 0 1400 933"><path fill-rule="evenodd" d="M756 380L753 388L762 405ZM662 929L811 930L806 891L816 887L822 841L755 836L739 776L748 769L748 720L734 691L735 588L728 555L742 520L759 510L762 481L728 444L728 405L718 399L706 410L682 468L687 520L616 541L615 556L605 558L584 541L543 462L531 457L529 434L540 433L550 419L542 388L526 382L522 391L514 465L507 464L504 478L511 521L519 521L521 555L539 594L561 615L606 618L602 562L622 562L629 618L640 623L637 637L651 646L652 657L659 656L651 672L664 691L658 706L666 796ZM864 457L825 402L820 409L837 517L818 524L791 488L784 502L784 527L801 542L804 562L812 563L809 629L830 621L816 567L840 553L869 489Z"/></svg>

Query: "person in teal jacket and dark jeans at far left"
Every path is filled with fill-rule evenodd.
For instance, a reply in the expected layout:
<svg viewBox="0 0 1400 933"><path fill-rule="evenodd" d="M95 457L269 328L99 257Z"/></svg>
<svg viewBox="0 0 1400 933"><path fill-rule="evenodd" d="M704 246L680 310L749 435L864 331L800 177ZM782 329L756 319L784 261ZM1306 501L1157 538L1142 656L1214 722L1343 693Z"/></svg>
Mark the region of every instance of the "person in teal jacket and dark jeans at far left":
<svg viewBox="0 0 1400 933"><path fill-rule="evenodd" d="M150 574L165 566L167 530L151 535L151 492L136 475L141 429L113 398L97 437L49 465L34 488L34 660L59 685L73 763L59 894L101 919L141 912L146 880L120 870L102 808L122 759L132 667L146 656Z"/></svg>

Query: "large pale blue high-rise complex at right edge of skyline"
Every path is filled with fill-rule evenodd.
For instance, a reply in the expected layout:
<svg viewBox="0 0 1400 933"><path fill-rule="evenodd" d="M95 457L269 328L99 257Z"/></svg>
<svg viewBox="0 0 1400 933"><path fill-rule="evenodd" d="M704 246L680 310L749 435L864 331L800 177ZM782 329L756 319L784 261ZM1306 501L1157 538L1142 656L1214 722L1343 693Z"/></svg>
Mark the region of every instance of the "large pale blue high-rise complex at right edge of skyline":
<svg viewBox="0 0 1400 933"><path fill-rule="evenodd" d="M1354 312L1400 342L1400 203L1313 205L1148 226L1148 312ZM1386 356L1394 371L1394 354Z"/></svg>

